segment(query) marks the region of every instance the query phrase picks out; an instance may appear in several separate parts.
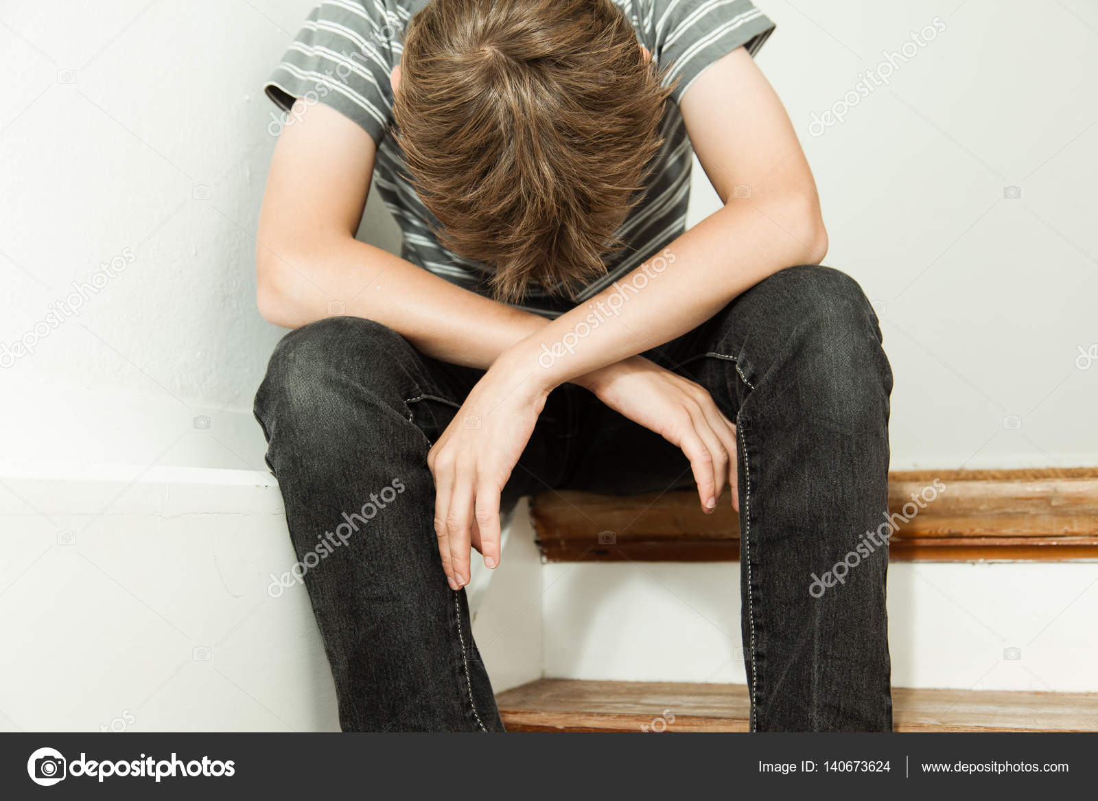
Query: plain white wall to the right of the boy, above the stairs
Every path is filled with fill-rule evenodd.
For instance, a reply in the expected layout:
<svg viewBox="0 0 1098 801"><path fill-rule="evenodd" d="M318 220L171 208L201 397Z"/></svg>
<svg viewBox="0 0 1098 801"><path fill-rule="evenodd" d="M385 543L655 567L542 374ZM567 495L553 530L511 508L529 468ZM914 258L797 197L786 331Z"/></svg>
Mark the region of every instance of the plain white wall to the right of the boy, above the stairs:
<svg viewBox="0 0 1098 801"><path fill-rule="evenodd" d="M777 23L759 64L815 170L827 263L883 311L893 467L1098 463L1098 369L1075 366L1080 345L1098 355L1098 3L759 4ZM944 31L890 86L809 132L934 18ZM697 219L715 202L701 170L694 189Z"/></svg>

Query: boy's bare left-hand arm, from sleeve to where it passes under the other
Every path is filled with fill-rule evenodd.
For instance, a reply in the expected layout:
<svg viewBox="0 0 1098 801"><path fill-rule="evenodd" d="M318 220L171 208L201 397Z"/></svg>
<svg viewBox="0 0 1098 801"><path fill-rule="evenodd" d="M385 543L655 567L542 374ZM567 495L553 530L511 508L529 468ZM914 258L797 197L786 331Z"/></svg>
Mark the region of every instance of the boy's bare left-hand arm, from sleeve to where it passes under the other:
<svg viewBox="0 0 1098 801"><path fill-rule="evenodd" d="M323 104L282 132L259 216L260 313L294 329L338 302L339 313L379 322L428 356L486 369L547 321L356 241L374 153L366 131Z"/></svg>

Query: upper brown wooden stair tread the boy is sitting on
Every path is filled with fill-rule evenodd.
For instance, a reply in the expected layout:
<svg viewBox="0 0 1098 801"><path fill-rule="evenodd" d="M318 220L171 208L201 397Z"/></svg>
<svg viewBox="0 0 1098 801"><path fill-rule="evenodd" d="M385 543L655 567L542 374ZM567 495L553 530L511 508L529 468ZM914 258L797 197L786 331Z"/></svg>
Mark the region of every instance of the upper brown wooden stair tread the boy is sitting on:
<svg viewBox="0 0 1098 801"><path fill-rule="evenodd" d="M545 492L530 515L550 561L727 561L739 558L739 518L725 500L706 515L688 490ZM894 559L1098 558L1098 468L894 472L888 507L901 515Z"/></svg>

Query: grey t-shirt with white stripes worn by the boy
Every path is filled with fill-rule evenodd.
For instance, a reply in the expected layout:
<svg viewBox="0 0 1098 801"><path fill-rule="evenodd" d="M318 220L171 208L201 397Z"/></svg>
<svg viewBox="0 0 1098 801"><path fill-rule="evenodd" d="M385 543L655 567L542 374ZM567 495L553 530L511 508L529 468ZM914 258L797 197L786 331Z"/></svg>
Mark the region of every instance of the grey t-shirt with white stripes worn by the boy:
<svg viewBox="0 0 1098 801"><path fill-rule="evenodd" d="M519 308L556 316L595 296L659 253L686 225L692 149L679 100L710 64L737 47L754 55L774 23L749 0L614 0L652 54L677 79L661 122L663 146L643 197L616 232L624 247L606 256L607 271L573 298L534 286ZM265 89L283 111L294 100L324 103L361 125L378 145L373 182L402 233L401 256L466 289L489 294L486 266L442 247L438 221L405 179L390 135L393 93L389 76L401 59L403 32L426 0L330 0L305 20ZM294 123L288 114L279 125ZM273 124L273 123L272 123ZM278 127L278 125L276 126Z"/></svg>

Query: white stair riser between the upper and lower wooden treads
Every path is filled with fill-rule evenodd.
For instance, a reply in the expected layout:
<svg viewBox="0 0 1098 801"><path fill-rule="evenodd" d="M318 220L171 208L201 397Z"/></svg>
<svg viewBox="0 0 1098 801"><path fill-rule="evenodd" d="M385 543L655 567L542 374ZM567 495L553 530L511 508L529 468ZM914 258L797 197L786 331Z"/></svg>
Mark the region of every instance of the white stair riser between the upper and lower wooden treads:
<svg viewBox="0 0 1098 801"><path fill-rule="evenodd" d="M743 683L739 571L738 563L547 565L546 675ZM1098 691L1096 583L1094 563L893 563L893 685Z"/></svg>

